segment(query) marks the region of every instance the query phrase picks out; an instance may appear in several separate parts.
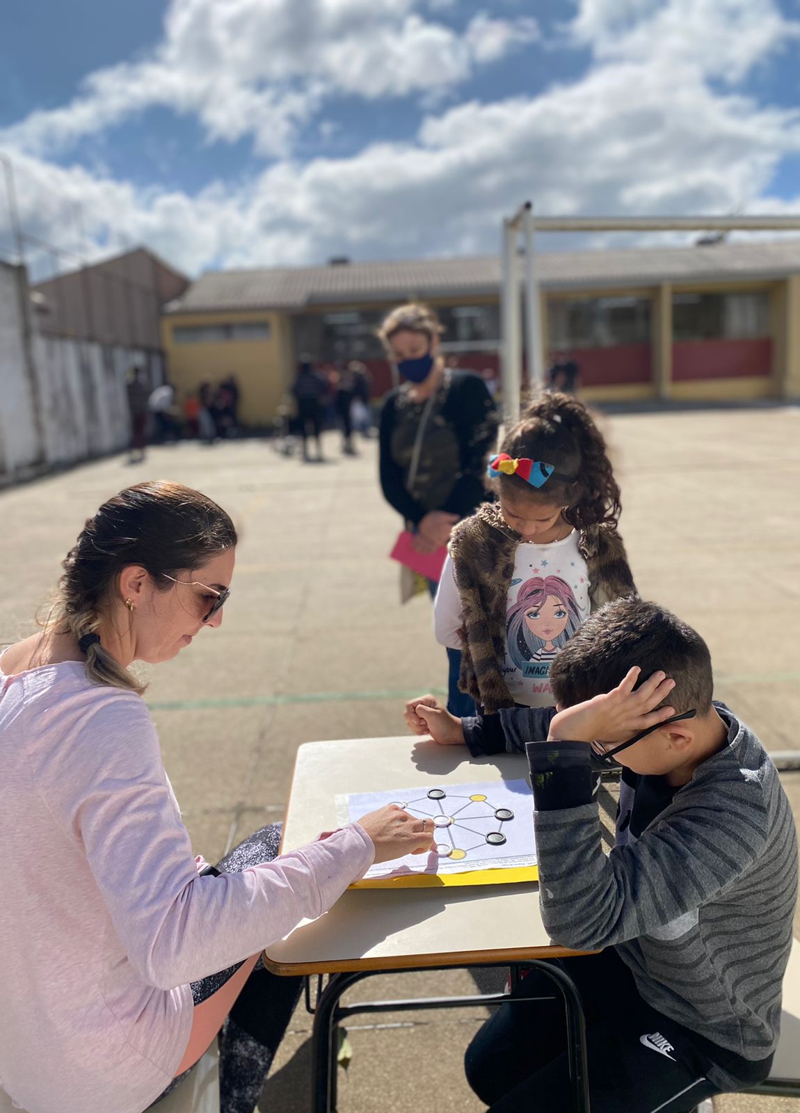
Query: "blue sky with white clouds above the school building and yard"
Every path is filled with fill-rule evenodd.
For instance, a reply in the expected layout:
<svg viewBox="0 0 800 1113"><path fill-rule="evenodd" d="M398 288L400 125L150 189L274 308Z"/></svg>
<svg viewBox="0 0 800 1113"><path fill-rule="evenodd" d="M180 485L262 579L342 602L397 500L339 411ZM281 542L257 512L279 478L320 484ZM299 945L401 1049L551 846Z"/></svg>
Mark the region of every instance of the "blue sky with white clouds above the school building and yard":
<svg viewBox="0 0 800 1113"><path fill-rule="evenodd" d="M32 0L0 45L24 229L192 274L493 252L527 197L800 194L800 12L778 0Z"/></svg>

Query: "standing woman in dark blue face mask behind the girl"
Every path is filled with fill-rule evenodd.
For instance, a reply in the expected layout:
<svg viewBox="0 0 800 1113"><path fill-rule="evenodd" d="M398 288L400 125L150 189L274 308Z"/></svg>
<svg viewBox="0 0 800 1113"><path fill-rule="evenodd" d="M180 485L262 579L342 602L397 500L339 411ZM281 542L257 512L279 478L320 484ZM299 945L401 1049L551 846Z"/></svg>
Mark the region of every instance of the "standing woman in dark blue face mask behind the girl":
<svg viewBox="0 0 800 1113"><path fill-rule="evenodd" d="M422 554L443 550L456 522L484 501L486 460L497 433L494 402L481 376L445 367L442 331L432 309L411 304L394 309L378 333L404 380L381 414L381 487ZM406 567L403 578L405 600L415 593ZM438 578L428 583L432 595L437 583ZM458 691L460 650L448 647L447 659L448 710L474 715L473 700Z"/></svg>

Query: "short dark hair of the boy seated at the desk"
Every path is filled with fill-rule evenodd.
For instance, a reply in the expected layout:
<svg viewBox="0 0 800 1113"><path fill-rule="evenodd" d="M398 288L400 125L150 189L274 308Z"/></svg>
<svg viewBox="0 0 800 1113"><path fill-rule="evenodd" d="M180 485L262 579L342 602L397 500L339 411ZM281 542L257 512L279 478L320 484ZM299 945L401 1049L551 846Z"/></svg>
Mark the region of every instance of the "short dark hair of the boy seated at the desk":
<svg viewBox="0 0 800 1113"><path fill-rule="evenodd" d="M559 652L550 672L555 700L572 707L611 691L634 664L642 670L636 687L656 669L675 681L668 701L676 712L711 708L709 647L663 607L633 597L601 607Z"/></svg>

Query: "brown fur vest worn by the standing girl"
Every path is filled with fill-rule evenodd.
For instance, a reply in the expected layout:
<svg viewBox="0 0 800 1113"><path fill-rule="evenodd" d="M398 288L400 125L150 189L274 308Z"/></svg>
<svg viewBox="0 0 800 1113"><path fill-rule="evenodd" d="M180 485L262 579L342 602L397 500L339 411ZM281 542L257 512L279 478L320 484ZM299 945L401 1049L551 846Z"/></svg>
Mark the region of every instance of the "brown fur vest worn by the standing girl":
<svg viewBox="0 0 800 1113"><path fill-rule="evenodd" d="M450 553L461 597L463 626L458 687L485 715L514 707L501 666L505 661L505 614L520 534L505 524L496 503L484 503L460 522ZM636 593L622 538L611 524L582 530L577 548L589 568L592 610Z"/></svg>

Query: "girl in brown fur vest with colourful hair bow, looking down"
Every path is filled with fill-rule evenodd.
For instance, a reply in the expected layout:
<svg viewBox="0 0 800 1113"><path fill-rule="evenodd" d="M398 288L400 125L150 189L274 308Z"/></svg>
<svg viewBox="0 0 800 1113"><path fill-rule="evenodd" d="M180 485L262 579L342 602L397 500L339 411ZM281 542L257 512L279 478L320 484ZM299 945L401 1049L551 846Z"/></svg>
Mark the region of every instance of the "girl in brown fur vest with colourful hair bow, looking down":
<svg viewBox="0 0 800 1113"><path fill-rule="evenodd" d="M559 649L591 611L635 594L618 532L620 487L583 403L535 397L488 475L496 501L453 530L436 599L436 637L462 649L460 686L481 713L458 720L434 697L406 707L416 733L476 755L546 738Z"/></svg>

